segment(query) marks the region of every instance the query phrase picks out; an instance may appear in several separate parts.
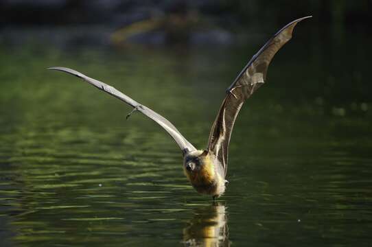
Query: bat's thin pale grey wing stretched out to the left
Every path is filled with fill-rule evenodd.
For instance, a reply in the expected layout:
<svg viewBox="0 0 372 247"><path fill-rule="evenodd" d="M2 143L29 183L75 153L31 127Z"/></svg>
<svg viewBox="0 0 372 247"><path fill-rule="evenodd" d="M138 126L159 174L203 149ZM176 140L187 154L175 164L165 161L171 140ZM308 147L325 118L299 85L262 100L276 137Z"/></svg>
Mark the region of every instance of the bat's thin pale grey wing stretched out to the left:
<svg viewBox="0 0 372 247"><path fill-rule="evenodd" d="M89 78L88 76L83 75L82 73L78 71L74 71L73 69L68 69L64 67L51 67L48 69L64 71L64 72L70 73L71 75L75 75L78 78L82 78L82 80L88 82L89 84L92 84L97 89L105 91L106 93L111 94L114 97L117 97L121 101L126 102L126 104L132 106L134 110L138 110L144 115L150 117L150 119L156 121L157 124L163 127L165 131L167 131L168 134L170 134L170 136L173 137L174 141L176 141L178 146L180 146L181 150L183 151L183 154L196 150L196 148L194 148L194 146L191 145L191 143L189 143L189 141L187 141L180 132L178 132L176 127L174 127L173 124L170 123L170 121L168 121L167 119L165 119L158 113L155 113L154 110L151 110L150 108L139 104L138 102L131 99L124 93L121 93L120 91L115 89L113 86L109 86L108 84L105 84L104 82L100 82L93 78Z"/></svg>

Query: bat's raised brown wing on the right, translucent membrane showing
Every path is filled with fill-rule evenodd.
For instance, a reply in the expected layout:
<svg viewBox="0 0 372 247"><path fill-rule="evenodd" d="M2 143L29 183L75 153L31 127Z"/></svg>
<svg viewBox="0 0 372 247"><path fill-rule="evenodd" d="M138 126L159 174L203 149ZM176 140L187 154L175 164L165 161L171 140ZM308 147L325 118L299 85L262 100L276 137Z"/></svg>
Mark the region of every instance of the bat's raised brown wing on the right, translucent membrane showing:
<svg viewBox="0 0 372 247"><path fill-rule="evenodd" d="M277 32L268 42L259 49L257 54L251 58L246 67L237 75L233 84L227 89L226 97L218 112L216 120L211 128L208 141L208 152L212 152L224 167L226 174L229 141L233 130L234 122L243 103L255 92L266 80L266 72L272 57L279 49L292 38L294 26L303 17L292 21L279 32Z"/></svg>

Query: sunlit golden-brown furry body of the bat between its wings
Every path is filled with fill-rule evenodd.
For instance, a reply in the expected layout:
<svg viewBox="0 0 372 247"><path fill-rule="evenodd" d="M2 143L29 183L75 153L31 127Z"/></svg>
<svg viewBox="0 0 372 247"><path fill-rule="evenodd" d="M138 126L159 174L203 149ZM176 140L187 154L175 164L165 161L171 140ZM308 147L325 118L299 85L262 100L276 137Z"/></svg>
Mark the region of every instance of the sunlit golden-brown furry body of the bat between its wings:
<svg viewBox="0 0 372 247"><path fill-rule="evenodd" d="M199 158L200 166L194 171L186 169L187 160ZM196 150L187 154L183 161L183 172L191 185L199 193L211 196L221 196L225 190L224 172L215 156L203 151Z"/></svg>

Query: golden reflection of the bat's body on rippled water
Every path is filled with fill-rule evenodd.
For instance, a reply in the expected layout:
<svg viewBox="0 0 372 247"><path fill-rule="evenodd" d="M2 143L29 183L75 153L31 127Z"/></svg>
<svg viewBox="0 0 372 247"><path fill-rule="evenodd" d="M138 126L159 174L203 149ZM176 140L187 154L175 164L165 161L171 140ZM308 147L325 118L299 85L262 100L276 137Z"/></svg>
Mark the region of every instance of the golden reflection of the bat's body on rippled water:
<svg viewBox="0 0 372 247"><path fill-rule="evenodd" d="M218 202L194 211L183 229L185 246L230 246L226 207Z"/></svg>

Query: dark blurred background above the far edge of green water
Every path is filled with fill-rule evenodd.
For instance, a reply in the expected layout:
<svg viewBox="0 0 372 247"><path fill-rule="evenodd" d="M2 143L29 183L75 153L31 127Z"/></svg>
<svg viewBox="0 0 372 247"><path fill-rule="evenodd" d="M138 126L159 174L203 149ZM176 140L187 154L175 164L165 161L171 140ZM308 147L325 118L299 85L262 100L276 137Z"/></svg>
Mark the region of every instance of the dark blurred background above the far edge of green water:
<svg viewBox="0 0 372 247"><path fill-rule="evenodd" d="M32 36L54 43L231 45L308 15L313 27L356 32L371 25L371 6L371 0L2 0L0 37L8 43ZM36 27L43 32L32 33Z"/></svg>

